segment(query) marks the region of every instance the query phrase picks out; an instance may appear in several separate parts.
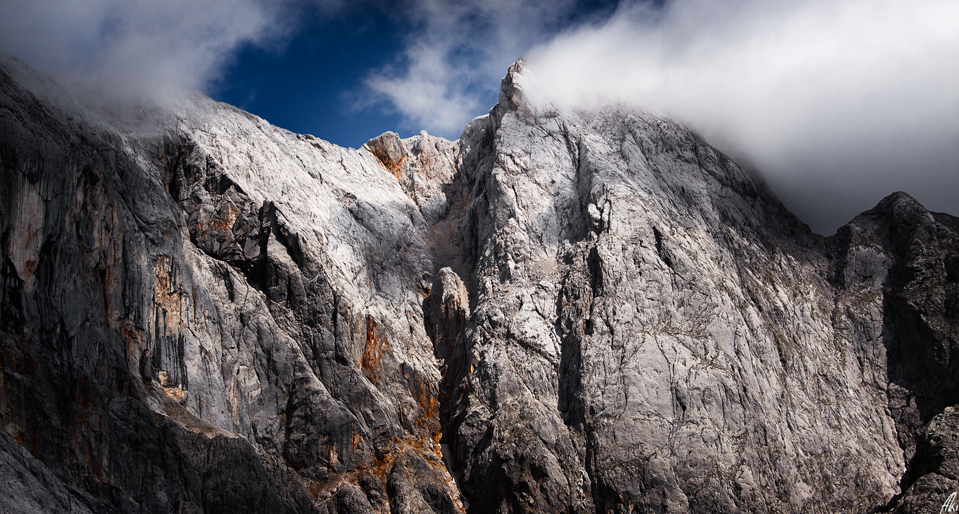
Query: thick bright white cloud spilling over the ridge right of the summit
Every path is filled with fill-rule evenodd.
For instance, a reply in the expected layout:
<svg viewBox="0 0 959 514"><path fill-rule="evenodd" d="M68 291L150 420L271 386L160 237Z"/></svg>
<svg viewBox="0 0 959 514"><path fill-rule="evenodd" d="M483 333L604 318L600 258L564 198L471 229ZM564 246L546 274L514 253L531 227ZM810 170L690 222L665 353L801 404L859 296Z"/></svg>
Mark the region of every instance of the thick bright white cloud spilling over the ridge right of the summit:
<svg viewBox="0 0 959 514"><path fill-rule="evenodd" d="M831 232L900 189L959 214L957 62L954 0L674 0L530 52L526 93L679 119Z"/></svg>

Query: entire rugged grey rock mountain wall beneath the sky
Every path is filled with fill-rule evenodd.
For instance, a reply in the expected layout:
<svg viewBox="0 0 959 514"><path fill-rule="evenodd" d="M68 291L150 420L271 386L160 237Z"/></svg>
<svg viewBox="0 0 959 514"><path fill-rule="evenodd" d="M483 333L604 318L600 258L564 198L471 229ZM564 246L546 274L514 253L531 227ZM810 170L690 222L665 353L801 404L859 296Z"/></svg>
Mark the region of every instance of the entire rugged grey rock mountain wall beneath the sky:
<svg viewBox="0 0 959 514"><path fill-rule="evenodd" d="M4 512L959 487L959 221L905 194L822 238L676 123L529 105L522 62L458 141L353 150L199 94L108 120L2 60Z"/></svg>

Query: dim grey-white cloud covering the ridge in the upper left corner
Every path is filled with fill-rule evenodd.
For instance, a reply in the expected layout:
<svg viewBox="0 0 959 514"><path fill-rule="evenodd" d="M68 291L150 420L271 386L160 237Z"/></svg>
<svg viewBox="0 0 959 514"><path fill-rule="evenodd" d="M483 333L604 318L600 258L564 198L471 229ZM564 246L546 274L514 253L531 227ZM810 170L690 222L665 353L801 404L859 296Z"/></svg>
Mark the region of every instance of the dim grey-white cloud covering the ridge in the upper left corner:
<svg viewBox="0 0 959 514"><path fill-rule="evenodd" d="M12 0L0 46L87 102L163 101L216 80L246 42L283 34L259 0Z"/></svg>

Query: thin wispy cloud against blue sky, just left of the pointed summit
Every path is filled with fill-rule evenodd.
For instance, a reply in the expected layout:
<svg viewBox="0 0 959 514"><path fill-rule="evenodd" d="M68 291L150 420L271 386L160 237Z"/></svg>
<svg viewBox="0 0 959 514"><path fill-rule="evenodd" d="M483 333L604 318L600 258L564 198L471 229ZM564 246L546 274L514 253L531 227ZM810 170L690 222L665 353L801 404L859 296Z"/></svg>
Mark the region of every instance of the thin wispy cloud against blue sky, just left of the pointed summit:
<svg viewBox="0 0 959 514"><path fill-rule="evenodd" d="M496 102L506 68L554 34L574 0L409 0L401 59L373 70L373 102L395 109L411 128L457 137Z"/></svg>

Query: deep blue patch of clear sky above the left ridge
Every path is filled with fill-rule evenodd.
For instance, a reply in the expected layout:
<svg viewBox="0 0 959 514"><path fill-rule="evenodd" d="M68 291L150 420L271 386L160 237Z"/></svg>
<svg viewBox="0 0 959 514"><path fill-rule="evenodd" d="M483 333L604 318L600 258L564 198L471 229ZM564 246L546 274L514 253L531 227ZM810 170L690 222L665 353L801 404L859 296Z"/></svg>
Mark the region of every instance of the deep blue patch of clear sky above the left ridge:
<svg viewBox="0 0 959 514"><path fill-rule="evenodd" d="M398 58L403 35L382 12L304 26L278 47L247 43L205 92L269 123L359 148L386 130L418 132L388 105L363 105L370 70ZM489 96L489 95L486 95Z"/></svg>

